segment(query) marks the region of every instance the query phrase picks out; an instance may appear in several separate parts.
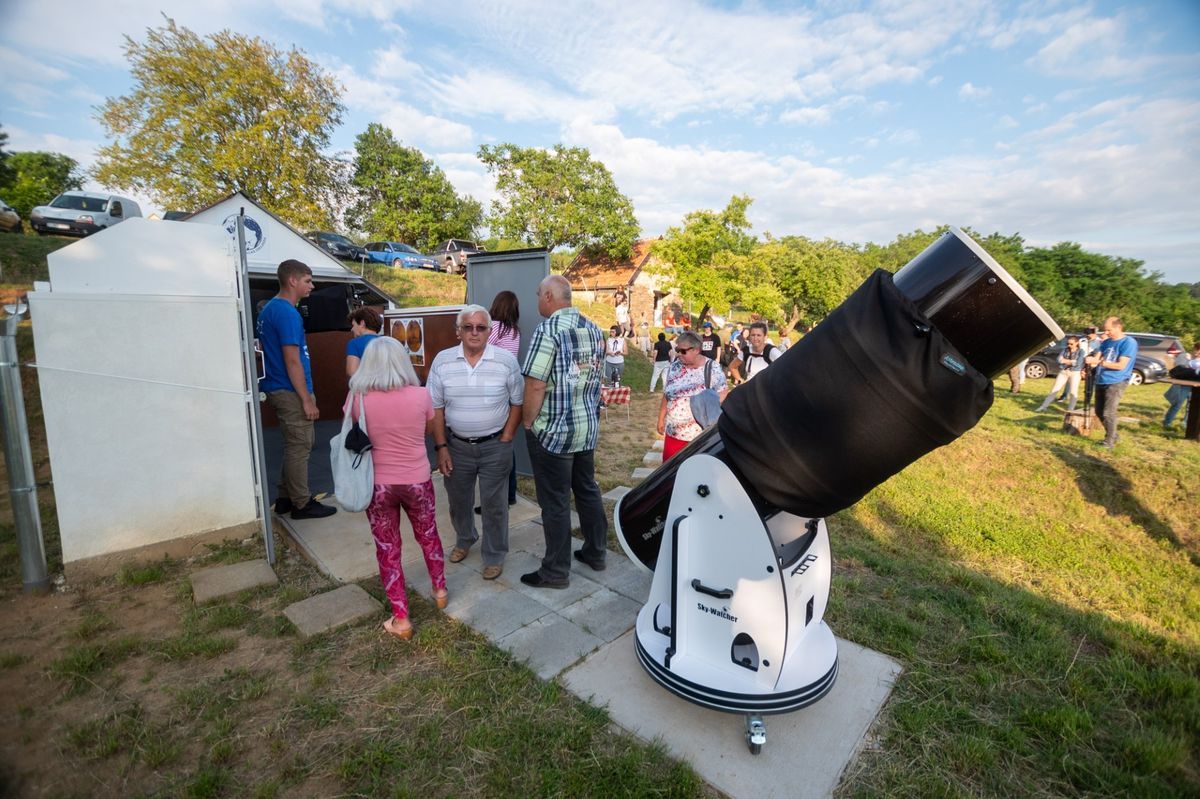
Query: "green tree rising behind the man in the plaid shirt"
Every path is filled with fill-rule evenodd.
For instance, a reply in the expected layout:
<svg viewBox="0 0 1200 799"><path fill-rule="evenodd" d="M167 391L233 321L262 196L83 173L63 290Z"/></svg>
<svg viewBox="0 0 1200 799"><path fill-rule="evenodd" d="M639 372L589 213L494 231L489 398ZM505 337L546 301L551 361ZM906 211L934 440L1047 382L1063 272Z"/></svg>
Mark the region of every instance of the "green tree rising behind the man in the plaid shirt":
<svg viewBox="0 0 1200 799"><path fill-rule="evenodd" d="M634 204L586 148L485 144L479 160L496 176L494 234L548 250L588 247L614 258L632 252L640 233Z"/></svg>

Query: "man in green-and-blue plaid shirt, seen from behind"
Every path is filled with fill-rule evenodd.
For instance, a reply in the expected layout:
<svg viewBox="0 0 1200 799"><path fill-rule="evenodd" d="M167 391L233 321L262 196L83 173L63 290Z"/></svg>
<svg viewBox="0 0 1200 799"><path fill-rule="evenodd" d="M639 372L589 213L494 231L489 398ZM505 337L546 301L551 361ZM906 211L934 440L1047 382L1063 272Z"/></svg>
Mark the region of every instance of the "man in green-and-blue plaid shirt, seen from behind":
<svg viewBox="0 0 1200 799"><path fill-rule="evenodd" d="M571 493L583 547L575 559L605 569L608 518L593 456L600 434L604 332L571 307L571 284L551 275L538 286L538 313L546 319L529 340L524 366L526 444L533 465L546 555L541 569L521 576L538 588L566 588L571 576Z"/></svg>

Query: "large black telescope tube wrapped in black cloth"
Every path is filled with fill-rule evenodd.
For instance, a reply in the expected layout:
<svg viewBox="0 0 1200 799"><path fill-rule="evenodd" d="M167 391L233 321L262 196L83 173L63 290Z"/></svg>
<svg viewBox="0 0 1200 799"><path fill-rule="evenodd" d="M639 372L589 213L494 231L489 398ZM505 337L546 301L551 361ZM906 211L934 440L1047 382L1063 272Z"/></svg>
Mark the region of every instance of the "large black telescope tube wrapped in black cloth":
<svg viewBox="0 0 1200 799"><path fill-rule="evenodd" d="M991 407L991 378L1061 336L1000 264L950 228L895 276L877 270L730 392L715 427L618 501L617 536L654 567L674 475L698 452L730 467L764 519L835 513L971 429Z"/></svg>

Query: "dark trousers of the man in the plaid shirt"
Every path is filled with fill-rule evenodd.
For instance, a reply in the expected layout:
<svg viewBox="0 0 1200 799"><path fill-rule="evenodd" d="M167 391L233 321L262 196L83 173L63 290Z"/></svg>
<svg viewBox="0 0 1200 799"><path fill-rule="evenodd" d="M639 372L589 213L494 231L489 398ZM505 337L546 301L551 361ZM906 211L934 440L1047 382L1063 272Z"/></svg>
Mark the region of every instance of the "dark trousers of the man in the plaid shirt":
<svg viewBox="0 0 1200 799"><path fill-rule="evenodd" d="M596 485L593 450L559 455L541 445L536 435L526 433L534 487L541 505L541 528L546 537L546 557L539 573L545 579L569 579L571 576L571 494L583 533L583 558L604 560L608 548L608 518Z"/></svg>

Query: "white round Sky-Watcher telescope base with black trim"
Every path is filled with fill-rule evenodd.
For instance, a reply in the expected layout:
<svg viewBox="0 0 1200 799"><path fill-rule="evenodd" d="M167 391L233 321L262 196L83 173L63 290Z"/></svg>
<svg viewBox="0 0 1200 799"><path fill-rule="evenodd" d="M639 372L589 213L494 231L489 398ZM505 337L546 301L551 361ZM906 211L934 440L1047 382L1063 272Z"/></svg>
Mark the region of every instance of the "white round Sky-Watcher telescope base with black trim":
<svg viewBox="0 0 1200 799"><path fill-rule="evenodd" d="M758 753L763 715L812 704L838 677L822 620L830 566L823 519L779 512L764 523L727 465L695 455L676 475L637 659L672 693L746 714Z"/></svg>

